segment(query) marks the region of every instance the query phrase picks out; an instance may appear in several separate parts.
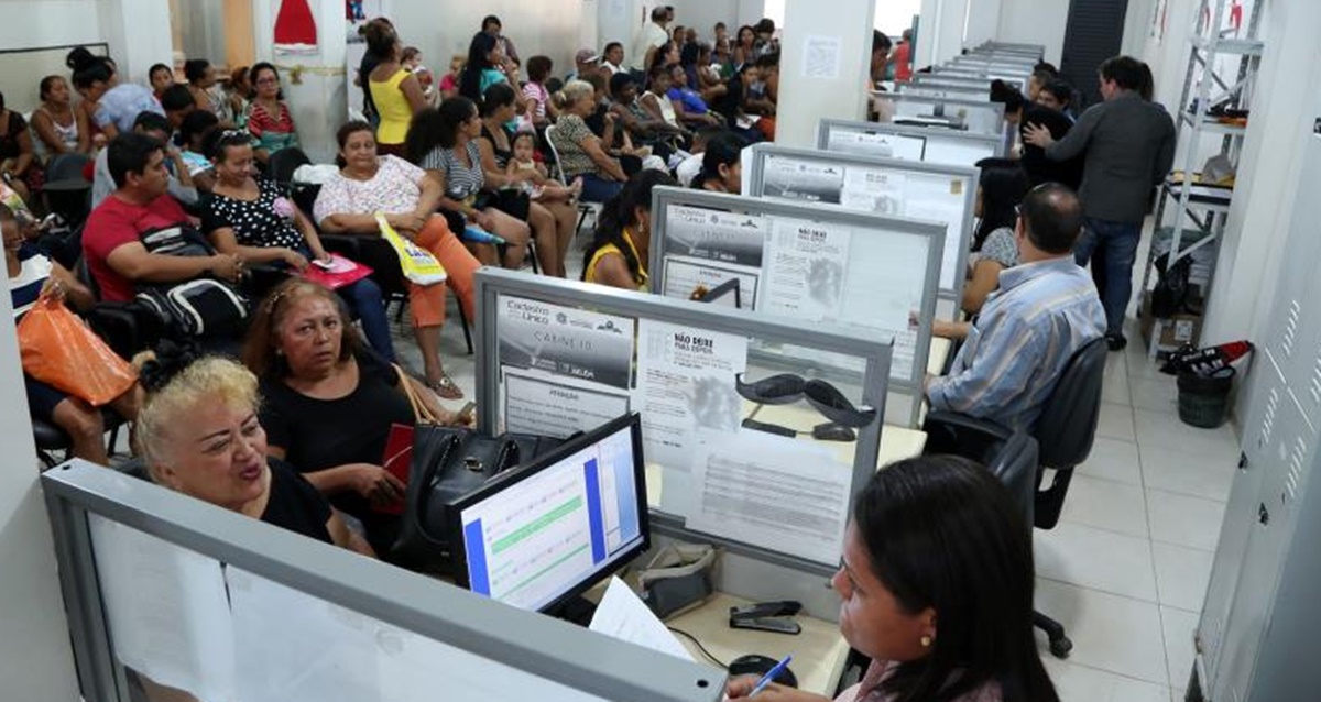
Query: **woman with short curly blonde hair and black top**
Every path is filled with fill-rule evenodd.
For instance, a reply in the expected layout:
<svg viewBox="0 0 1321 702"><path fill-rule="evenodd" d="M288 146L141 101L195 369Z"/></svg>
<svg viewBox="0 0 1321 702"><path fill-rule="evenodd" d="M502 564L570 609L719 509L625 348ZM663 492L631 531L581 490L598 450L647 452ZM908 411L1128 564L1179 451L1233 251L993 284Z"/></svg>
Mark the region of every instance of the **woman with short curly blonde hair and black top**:
<svg viewBox="0 0 1321 702"><path fill-rule="evenodd" d="M371 548L299 472L267 457L258 381L219 356L162 348L140 362L137 439L153 482L365 556Z"/></svg>

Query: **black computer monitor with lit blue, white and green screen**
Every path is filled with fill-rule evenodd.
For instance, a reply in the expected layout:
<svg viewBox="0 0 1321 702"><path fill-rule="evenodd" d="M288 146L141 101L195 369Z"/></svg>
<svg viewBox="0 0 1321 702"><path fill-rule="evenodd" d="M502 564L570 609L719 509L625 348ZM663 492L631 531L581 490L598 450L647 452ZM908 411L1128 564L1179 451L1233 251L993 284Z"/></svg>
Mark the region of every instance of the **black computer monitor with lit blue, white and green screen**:
<svg viewBox="0 0 1321 702"><path fill-rule="evenodd" d="M555 611L650 546L638 414L491 480L450 515L457 585Z"/></svg>

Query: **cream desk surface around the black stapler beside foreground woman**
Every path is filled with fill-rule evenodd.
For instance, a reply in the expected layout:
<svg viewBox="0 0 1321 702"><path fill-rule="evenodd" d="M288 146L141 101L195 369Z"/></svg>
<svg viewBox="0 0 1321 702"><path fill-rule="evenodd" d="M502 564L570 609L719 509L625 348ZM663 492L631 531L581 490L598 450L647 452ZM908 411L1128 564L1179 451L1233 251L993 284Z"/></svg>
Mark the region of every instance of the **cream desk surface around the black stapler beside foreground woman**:
<svg viewBox="0 0 1321 702"><path fill-rule="evenodd" d="M798 687L834 697L848 660L848 643L839 633L839 625L799 616L797 619L803 631L797 636L729 628L729 608L748 603L745 599L716 592L701 607L671 618L666 625L691 633L725 664L748 653L775 660L793 653L794 662L789 664L789 669L798 677ZM711 662L687 637L675 637L688 648L695 660Z"/></svg>

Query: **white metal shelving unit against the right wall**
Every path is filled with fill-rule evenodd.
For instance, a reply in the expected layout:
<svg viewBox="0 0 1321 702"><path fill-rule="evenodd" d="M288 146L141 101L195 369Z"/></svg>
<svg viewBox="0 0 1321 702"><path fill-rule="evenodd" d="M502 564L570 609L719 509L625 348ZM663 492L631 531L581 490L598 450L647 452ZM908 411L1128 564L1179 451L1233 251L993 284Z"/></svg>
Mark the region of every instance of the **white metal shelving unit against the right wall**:
<svg viewBox="0 0 1321 702"><path fill-rule="evenodd" d="M1180 259L1190 256L1203 247L1215 245L1225 231L1232 202L1231 189L1215 193L1206 185L1193 181L1199 164L1202 136L1221 137L1221 154L1238 169L1239 153L1247 128L1240 124L1226 124L1213 116L1214 106L1235 110L1250 110L1252 88L1258 69L1262 65L1264 42L1258 38L1262 7L1266 0L1243 0L1242 5L1231 5L1230 0L1201 0L1193 20L1193 36L1189 40L1190 51L1188 73L1184 77L1184 92L1178 103L1176 120L1177 143L1184 144L1184 157L1180 165L1182 179L1166 179L1160 189L1156 206L1156 228L1161 230L1166 220L1166 210L1173 207L1173 223L1169 234L1169 260L1173 265ZM1244 8L1243 5L1250 5ZM1234 11L1236 7L1236 12ZM1230 12L1226 12L1230 11ZM1238 17L1238 26L1234 17ZM1192 232L1189 236L1185 232ZM1193 240L1185 241L1192 238ZM1162 247L1161 247L1162 248ZM1147 269L1143 274L1141 294L1147 294L1152 284L1152 271L1159 257L1159 247L1152 241L1147 256ZM1199 281L1201 296L1205 300L1215 276L1214 263L1206 272L1206 280ZM1145 307L1145 306L1144 306ZM1148 311L1144 309L1144 314ZM1149 342L1149 355L1156 356L1174 351L1174 344L1161 344L1161 335L1172 319L1156 318ZM1190 339L1193 343L1197 339Z"/></svg>

